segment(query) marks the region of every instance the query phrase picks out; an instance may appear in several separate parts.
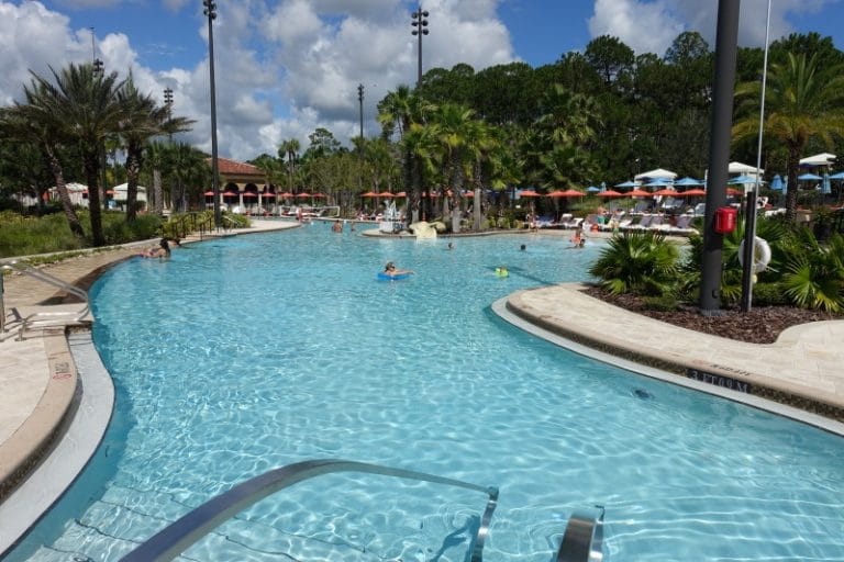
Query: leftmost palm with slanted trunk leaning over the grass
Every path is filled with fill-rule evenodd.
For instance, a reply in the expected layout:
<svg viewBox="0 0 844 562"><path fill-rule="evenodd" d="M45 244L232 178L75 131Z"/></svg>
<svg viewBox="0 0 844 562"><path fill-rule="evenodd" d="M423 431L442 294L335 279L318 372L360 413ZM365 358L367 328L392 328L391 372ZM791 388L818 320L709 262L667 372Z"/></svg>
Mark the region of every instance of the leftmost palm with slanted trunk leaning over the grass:
<svg viewBox="0 0 844 562"><path fill-rule="evenodd" d="M40 82L33 80L23 87L26 104L15 103L13 108L0 110L0 132L3 136L23 143L32 143L38 148L47 165L58 191L58 199L67 218L70 232L77 238L85 238L85 229L70 202L70 194L65 184L65 173L57 156L57 143L60 142L60 124L38 100L44 95Z"/></svg>

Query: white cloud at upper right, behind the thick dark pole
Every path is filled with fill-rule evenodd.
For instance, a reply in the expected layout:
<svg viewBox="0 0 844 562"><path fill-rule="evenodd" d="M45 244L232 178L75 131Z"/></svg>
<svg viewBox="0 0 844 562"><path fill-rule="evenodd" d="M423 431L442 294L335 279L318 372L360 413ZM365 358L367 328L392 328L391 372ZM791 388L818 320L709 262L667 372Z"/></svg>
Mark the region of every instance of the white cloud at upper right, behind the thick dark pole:
<svg viewBox="0 0 844 562"><path fill-rule="evenodd" d="M777 0L771 3L771 41L793 32L791 13L813 13L837 0ZM744 0L738 20L738 43L763 46L768 0ZM636 53L665 54L684 31L699 32L714 48L718 2L700 0L596 0L589 19L592 37L613 35Z"/></svg>

